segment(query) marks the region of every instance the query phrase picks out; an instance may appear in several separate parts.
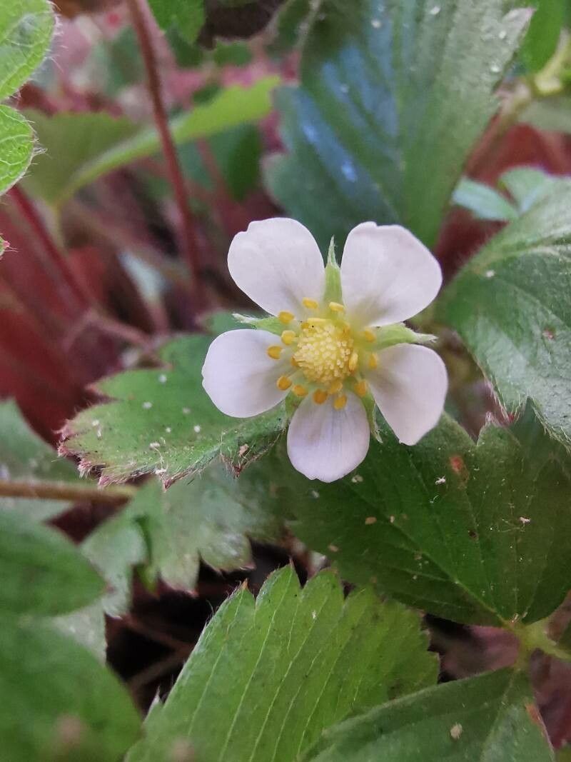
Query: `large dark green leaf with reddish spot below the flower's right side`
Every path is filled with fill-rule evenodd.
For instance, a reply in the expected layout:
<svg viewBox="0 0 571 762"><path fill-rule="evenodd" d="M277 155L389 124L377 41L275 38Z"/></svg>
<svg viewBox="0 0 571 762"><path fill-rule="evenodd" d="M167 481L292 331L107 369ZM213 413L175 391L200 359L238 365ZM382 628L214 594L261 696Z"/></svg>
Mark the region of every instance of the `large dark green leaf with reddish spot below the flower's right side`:
<svg viewBox="0 0 571 762"><path fill-rule="evenodd" d="M241 475L244 499L266 485L266 503L343 579L455 622L531 623L560 604L571 588L571 480L557 458L536 463L493 425L476 446L447 416L415 447L386 425L381 438L330 485L299 475L276 448L263 469Z"/></svg>

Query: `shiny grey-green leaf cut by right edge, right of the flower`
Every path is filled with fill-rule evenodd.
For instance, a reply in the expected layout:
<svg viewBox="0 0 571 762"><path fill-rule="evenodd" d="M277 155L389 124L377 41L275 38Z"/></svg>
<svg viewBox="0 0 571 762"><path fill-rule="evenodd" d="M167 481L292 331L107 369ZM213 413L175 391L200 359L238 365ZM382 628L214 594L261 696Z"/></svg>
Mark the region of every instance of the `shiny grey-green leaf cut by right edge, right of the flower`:
<svg viewBox="0 0 571 762"><path fill-rule="evenodd" d="M555 181L462 268L439 307L499 394L571 442L571 182Z"/></svg>

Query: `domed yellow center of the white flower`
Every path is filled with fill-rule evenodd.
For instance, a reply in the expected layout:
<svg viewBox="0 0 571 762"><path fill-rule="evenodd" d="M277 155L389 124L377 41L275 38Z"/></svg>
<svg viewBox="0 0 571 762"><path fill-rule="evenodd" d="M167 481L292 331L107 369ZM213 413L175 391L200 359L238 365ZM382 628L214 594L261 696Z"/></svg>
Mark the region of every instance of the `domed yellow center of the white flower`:
<svg viewBox="0 0 571 762"><path fill-rule="evenodd" d="M350 328L325 318L308 319L301 325L293 360L312 383L343 382L356 368Z"/></svg>

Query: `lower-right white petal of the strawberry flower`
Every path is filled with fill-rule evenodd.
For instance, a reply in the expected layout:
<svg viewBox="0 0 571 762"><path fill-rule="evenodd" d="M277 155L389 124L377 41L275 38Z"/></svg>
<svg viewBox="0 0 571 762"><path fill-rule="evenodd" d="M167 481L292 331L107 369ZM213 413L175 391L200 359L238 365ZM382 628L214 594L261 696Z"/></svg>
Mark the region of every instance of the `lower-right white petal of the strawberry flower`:
<svg viewBox="0 0 571 762"><path fill-rule="evenodd" d="M397 344L378 354L367 381L385 421L404 444L416 444L439 422L448 376L428 347Z"/></svg>

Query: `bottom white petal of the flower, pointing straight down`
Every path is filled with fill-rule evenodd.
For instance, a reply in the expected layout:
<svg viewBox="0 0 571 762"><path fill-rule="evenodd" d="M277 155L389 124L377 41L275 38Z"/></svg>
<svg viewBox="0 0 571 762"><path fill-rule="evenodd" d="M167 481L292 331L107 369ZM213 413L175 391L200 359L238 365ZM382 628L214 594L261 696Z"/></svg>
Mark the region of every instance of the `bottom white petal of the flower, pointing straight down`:
<svg viewBox="0 0 571 762"><path fill-rule="evenodd" d="M359 466L369 435L365 408L356 395L347 395L343 410L335 410L331 398L316 405L306 397L289 425L289 459L308 479L334 482Z"/></svg>

